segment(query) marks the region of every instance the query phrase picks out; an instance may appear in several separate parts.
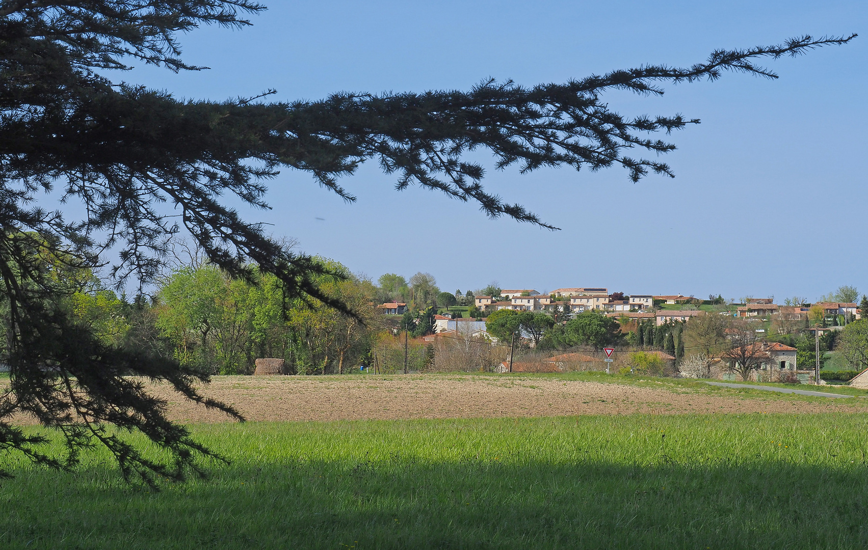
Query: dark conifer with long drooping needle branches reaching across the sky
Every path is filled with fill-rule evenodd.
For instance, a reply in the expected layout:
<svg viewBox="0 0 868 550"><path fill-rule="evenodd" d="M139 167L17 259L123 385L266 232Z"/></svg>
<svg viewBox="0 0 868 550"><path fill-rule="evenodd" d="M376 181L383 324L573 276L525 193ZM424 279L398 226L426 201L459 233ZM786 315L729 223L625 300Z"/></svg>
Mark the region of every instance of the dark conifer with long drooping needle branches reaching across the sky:
<svg viewBox="0 0 868 550"><path fill-rule="evenodd" d="M465 154L485 148L496 167L517 165L522 172L618 165L634 181L648 171L671 176L665 163L628 153L667 153L674 145L649 134L698 121L623 117L603 101L606 91L661 95L659 82L714 80L727 70L776 78L756 60L797 56L853 37L802 36L776 46L718 50L684 69L649 65L533 88L487 80L470 91L336 94L291 103L266 101L272 92L178 101L103 74L135 61L200 70L181 60L179 32L208 23L246 26L244 13L264 9L253 0L0 1L2 356L10 365L10 384L0 396L0 448L68 468L96 438L115 453L123 475L153 485L155 475L181 480L191 471L201 474L203 455L212 454L168 422L166 403L148 396L136 376L168 381L188 398L240 418L196 393L193 384L207 381L205 373L146 351L110 348L76 325L62 307L69 289L52 276L47 256L93 268L106 249L120 250L110 267L117 284L135 278L145 285L164 264L172 237L186 231L233 277L273 273L287 298L316 298L346 311L316 285L325 267L266 236L221 197L233 194L267 208L264 182L293 167L353 200L339 178L376 160L395 174L398 189L419 185L477 201L491 217L551 228L485 191L483 167ZM39 193L56 186L66 200L86 207L83 219L34 206ZM163 204L174 206L180 221ZM61 430L68 454L38 452L45 438L17 429L10 419L19 413ZM126 429L148 435L170 458L148 459L122 437Z"/></svg>

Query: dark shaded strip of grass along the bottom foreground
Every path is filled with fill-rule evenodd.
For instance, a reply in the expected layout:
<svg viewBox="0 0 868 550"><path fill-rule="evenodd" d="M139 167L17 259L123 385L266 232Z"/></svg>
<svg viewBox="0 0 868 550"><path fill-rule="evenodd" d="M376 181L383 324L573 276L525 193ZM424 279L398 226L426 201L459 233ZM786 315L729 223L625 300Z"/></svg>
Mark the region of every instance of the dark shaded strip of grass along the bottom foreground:
<svg viewBox="0 0 868 550"><path fill-rule="evenodd" d="M3 481L4 548L865 548L868 468L784 462L235 465L159 494L113 470ZM28 546L30 541L30 546ZM36 545L36 546L35 546Z"/></svg>

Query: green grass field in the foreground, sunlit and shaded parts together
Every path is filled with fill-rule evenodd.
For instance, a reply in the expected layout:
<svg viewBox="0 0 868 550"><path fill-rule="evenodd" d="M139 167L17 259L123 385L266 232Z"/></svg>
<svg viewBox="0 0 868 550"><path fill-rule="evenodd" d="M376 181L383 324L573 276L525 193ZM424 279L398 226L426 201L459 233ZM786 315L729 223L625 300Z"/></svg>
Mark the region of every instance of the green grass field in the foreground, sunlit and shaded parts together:
<svg viewBox="0 0 868 550"><path fill-rule="evenodd" d="M9 465L3 548L865 548L868 418L194 427L211 479Z"/></svg>

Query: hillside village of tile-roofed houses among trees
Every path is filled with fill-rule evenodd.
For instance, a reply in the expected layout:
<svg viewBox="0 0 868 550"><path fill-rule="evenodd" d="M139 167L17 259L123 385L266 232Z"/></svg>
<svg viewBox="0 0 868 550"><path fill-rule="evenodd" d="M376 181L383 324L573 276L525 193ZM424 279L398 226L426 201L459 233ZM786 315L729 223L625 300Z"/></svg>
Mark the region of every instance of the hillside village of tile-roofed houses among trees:
<svg viewBox="0 0 868 550"><path fill-rule="evenodd" d="M830 357L834 358L833 333L861 319L868 310L868 303L858 304L855 301L820 301L811 304L801 298L787 298L785 304L774 304L773 298L745 297L740 302L734 302L713 295L709 295L708 299L681 294L627 295L609 292L605 287L565 287L540 292L529 288L500 290L490 285L489 290L499 292L473 293L470 297L470 292L461 295L458 291L454 301L438 300L437 312L432 316L431 334L423 335L422 340L432 343L443 339L470 338L491 345L509 344L508 358L494 367L497 371L610 369L613 364L606 363L602 358L600 345L597 345L599 343L586 341L582 342L585 344L583 346L570 346L583 350L556 353L564 349L547 341L549 333L566 330L571 320L594 315L615 322L616 334L607 345L621 351L616 354L621 369L626 368L624 363L636 363L635 356L644 354L648 356L643 356L646 363L654 363L659 370L673 376L735 380L740 375L750 380L816 383L816 353L806 351L808 344L819 344L819 337L823 337L822 361L825 366ZM832 293L829 296L832 297ZM444 307L439 307L441 305ZM412 316L411 308L403 302L383 303L377 309L385 315ZM503 330L498 330L497 323L492 323L494 318L509 315L503 312L521 313L528 319L536 318L537 324L548 328L536 334L533 330L522 328L510 333L513 337L507 338ZM744 338L736 326L740 326L741 330L747 327L750 342L742 347L750 348L748 355L751 357L741 357L741 361L733 354L729 357L705 357L699 361L705 363L697 366L696 354L685 352L683 339L686 336L682 335L688 326L701 324L701 318L705 316L729 318L736 323L727 325L725 337L729 342ZM693 319L696 321L691 324ZM528 356L531 350L537 352L532 360L516 361L512 357L516 353L515 336L518 337L518 346L524 350L523 356ZM735 344L730 346L738 347ZM546 350L549 353L546 354ZM546 357L542 357L541 353ZM753 365L740 365L751 361ZM637 366L640 365L632 364L628 368L632 371ZM830 380L836 379L832 371L822 374ZM822 380L819 382L824 383Z"/></svg>

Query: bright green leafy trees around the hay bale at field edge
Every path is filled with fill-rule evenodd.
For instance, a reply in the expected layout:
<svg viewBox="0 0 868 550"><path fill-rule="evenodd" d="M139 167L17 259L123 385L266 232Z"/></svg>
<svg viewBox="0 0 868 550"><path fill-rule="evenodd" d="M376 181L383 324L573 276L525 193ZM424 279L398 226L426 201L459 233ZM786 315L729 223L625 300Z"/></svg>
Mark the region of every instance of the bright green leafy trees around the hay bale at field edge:
<svg viewBox="0 0 868 550"><path fill-rule="evenodd" d="M320 261L345 272L343 265ZM319 290L372 319L371 289L363 282L325 276ZM214 265L183 267L161 286L159 299L156 325L173 344L174 358L214 374L249 374L257 357L283 358L290 372L342 371L345 361L357 362L370 347L372 326L325 304L287 304L272 275L247 282Z"/></svg>

